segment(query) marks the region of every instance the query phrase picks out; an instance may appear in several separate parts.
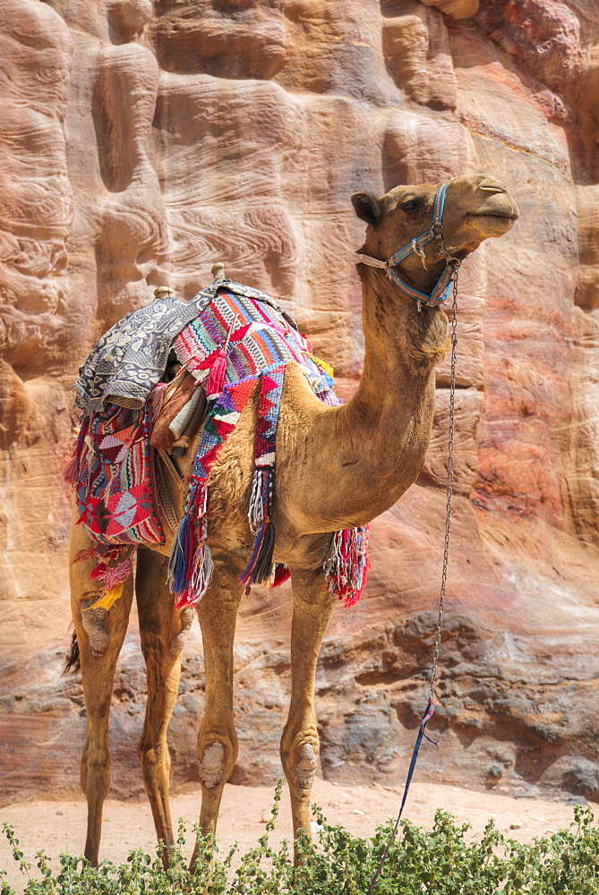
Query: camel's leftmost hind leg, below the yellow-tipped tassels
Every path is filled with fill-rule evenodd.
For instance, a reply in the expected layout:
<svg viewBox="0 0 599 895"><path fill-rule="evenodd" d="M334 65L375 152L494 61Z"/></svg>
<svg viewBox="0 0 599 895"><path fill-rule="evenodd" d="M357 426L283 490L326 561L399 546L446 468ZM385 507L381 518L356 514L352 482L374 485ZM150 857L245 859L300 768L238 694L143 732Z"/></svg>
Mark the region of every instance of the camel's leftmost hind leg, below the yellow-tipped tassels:
<svg viewBox="0 0 599 895"><path fill-rule="evenodd" d="M133 600L133 576L125 582L123 595L107 612L90 609L98 601L101 588L90 581L96 560L78 562L79 550L88 550L90 540L80 525L73 524L71 537L71 608L79 646L81 684L87 715L87 737L81 755L81 788L88 802L85 857L98 866L102 807L110 785L108 715L115 680L116 661L127 631Z"/></svg>

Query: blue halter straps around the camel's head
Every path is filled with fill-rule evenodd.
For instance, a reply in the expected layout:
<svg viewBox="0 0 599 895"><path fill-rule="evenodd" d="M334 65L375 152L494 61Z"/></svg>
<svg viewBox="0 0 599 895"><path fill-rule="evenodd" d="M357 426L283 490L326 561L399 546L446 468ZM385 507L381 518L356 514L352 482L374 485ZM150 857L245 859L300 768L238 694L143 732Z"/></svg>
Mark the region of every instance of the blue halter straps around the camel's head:
<svg viewBox="0 0 599 895"><path fill-rule="evenodd" d="M432 227L430 230L427 230L426 233L422 234L422 236L418 236L417 239L413 239L411 243L407 243L403 249L396 251L396 253L391 255L386 261L381 261L379 258L372 258L370 255L363 255L361 252L358 252L358 258L363 264L368 264L371 268L381 268L384 270L392 283L395 283L395 285L399 286L399 288L406 294L411 295L412 298L416 299L418 308L420 308L421 303L426 304L429 308L433 308L438 304L442 304L447 299L449 292L451 291L451 283L457 275L460 265L458 258L454 258L453 255L449 253L443 238L443 209L445 207L445 192L447 191L447 186L447 183L443 183L435 193L434 201L432 203ZM406 281L399 277L395 268L406 259L408 255L413 253L424 258L423 246L426 245L426 243L430 243L433 239L441 240L445 250L445 257L448 258L448 262L445 265L445 270L443 270L441 277L439 277L436 285L433 287L432 292L425 293L420 292L419 289L415 289L414 286L408 286Z"/></svg>

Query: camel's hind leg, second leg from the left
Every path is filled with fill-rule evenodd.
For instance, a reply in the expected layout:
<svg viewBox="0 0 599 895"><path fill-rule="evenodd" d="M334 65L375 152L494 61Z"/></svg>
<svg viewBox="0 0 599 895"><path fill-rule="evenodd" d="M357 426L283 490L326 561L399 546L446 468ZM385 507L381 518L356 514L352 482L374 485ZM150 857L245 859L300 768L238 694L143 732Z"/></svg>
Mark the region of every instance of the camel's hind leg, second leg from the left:
<svg viewBox="0 0 599 895"><path fill-rule="evenodd" d="M158 840L175 845L170 815L170 754L167 728L175 705L184 639L192 626L192 609L175 609L167 587L168 558L152 550L138 551L135 591L140 614L141 650L148 671L148 700L139 746L143 780L150 799Z"/></svg>

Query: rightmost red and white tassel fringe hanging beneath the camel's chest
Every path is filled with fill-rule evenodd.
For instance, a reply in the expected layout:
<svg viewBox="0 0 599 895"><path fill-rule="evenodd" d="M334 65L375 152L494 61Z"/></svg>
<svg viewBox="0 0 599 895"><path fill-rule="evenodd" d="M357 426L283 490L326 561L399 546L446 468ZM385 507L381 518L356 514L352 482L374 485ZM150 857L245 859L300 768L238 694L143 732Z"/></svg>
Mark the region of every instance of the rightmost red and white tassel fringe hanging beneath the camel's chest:
<svg viewBox="0 0 599 895"><path fill-rule="evenodd" d="M329 591L345 607L353 606L361 597L370 561L368 559L368 526L345 528L333 535L332 554L324 564Z"/></svg>

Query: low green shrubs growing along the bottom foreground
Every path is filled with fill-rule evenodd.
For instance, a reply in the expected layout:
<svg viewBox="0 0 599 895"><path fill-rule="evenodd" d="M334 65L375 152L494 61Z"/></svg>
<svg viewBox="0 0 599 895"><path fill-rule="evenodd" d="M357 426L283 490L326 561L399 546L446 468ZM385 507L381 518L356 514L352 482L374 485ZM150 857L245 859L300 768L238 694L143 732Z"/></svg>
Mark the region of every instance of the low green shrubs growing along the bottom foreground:
<svg viewBox="0 0 599 895"><path fill-rule="evenodd" d="M177 845L165 869L160 859L141 849L130 853L124 865L103 861L98 869L81 857L61 855L55 876L43 851L37 853L40 878L30 878L26 895L366 895L389 840L393 823L377 829L370 839L352 836L340 826L331 826L314 806L320 825L318 843L307 837L295 843L300 857L294 867L287 841L270 848L281 797L279 782L272 815L255 848L239 859L232 872L236 845L223 861L216 844L201 838L193 871L182 855L184 823L179 824ZM450 814L437 811L431 832L403 821L397 840L373 895L599 895L599 829L589 807L574 807L574 823L551 838L521 845L505 839L489 821L480 841L467 842L467 823L457 826ZM195 830L197 833L197 830ZM4 823L13 846L13 857L29 876L30 864L19 848L13 829ZM0 895L13 895L13 888L0 871Z"/></svg>

